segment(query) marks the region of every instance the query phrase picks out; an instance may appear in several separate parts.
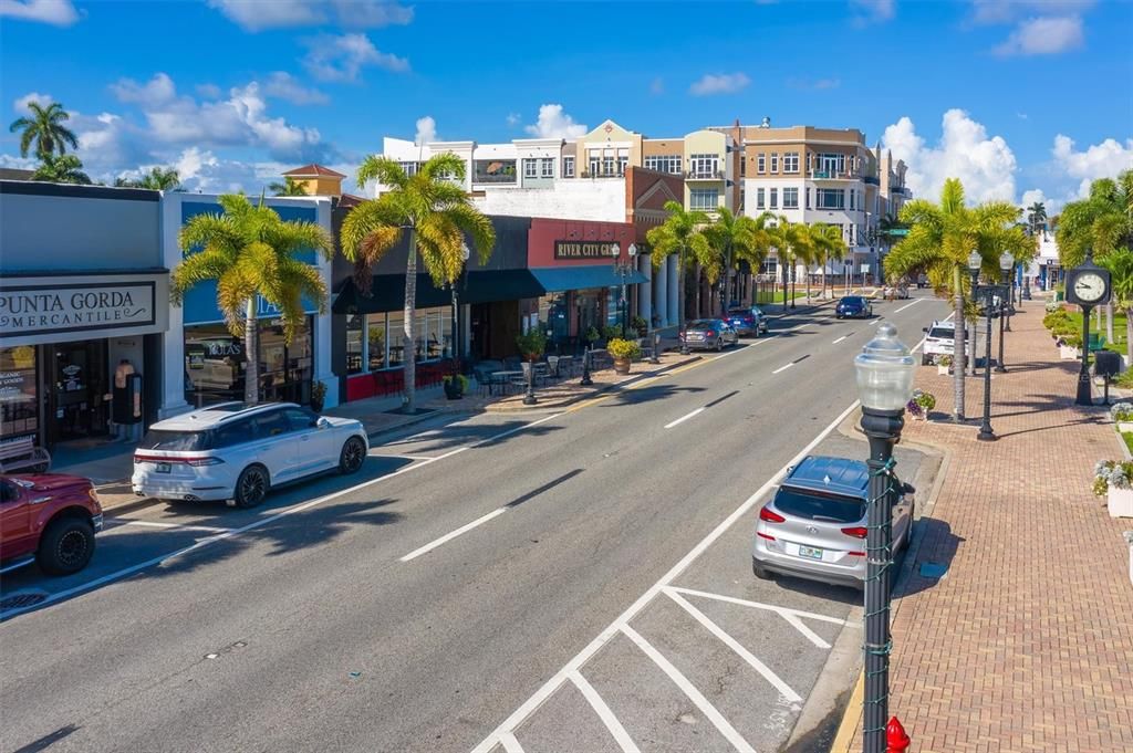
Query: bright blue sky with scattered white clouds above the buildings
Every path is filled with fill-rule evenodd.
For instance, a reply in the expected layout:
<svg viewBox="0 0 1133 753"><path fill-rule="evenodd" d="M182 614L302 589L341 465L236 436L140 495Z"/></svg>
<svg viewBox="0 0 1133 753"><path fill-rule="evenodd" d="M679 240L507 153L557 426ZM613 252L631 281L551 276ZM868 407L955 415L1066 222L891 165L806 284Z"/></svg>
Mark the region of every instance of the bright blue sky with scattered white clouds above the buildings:
<svg viewBox="0 0 1133 753"><path fill-rule="evenodd" d="M921 195L956 176L1057 208L1133 166L1131 29L1133 3L1091 0L0 0L0 106L61 102L102 180L165 164L206 191L347 172L384 135L768 115L861 128Z"/></svg>

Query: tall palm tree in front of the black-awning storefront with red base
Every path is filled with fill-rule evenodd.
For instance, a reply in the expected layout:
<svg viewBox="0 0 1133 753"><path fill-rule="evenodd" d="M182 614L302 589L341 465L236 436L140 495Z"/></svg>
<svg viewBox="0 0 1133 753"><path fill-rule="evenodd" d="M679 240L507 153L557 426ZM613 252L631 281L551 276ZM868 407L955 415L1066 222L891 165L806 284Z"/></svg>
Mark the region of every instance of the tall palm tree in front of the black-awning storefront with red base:
<svg viewBox="0 0 1133 753"><path fill-rule="evenodd" d="M454 179L454 180L453 180ZM477 209L461 188L465 162L454 154L437 154L414 176L384 156L367 156L358 168L358 185L377 180L389 186L375 199L356 206L342 222L342 253L355 263L356 281L369 290L369 267L409 238L406 263L404 392L407 412L416 411L416 348L414 311L417 298L417 256L438 286L452 284L465 264L465 236L471 238L480 263L495 246L492 221Z"/></svg>

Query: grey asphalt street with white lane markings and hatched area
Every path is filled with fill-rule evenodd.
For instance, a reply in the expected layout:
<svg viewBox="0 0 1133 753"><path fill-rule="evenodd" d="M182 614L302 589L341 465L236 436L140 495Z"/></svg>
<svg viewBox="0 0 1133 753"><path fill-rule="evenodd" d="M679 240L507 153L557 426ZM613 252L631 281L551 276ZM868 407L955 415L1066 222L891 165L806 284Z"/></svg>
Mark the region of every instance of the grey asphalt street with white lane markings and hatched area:
<svg viewBox="0 0 1133 753"><path fill-rule="evenodd" d="M946 305L875 311L912 344ZM83 573L5 577L46 601L0 624L0 750L777 750L860 597L753 579L753 505L854 401L877 322L418 425L256 511L118 519Z"/></svg>

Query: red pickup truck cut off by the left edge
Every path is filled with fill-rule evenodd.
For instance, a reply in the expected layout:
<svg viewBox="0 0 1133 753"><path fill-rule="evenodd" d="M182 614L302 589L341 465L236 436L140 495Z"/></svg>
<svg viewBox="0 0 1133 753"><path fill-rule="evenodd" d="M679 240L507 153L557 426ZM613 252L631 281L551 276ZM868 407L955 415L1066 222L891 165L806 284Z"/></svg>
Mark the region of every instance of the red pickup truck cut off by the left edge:
<svg viewBox="0 0 1133 753"><path fill-rule="evenodd" d="M102 505L90 480L43 473L0 477L0 573L37 562L52 575L86 567Z"/></svg>

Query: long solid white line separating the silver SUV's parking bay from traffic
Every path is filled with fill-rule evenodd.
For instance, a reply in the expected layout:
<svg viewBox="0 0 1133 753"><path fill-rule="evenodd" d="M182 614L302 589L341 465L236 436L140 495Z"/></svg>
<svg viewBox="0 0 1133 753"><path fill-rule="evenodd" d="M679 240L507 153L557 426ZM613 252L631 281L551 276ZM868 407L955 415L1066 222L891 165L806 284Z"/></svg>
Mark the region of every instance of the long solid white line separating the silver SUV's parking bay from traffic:
<svg viewBox="0 0 1133 753"><path fill-rule="evenodd" d="M658 593L661 593L661 590L664 587L676 580L681 573L688 570L689 565L691 565L700 555L705 553L705 550L708 549L708 547L715 544L719 537L724 536L725 531L732 528L738 520L747 515L757 502L767 496L767 493L769 493L775 485L778 484L784 476L786 476L787 468L796 465L799 461L810 454L810 452L817 447L823 439L829 436L830 433L834 431L840 423L842 423L842 421L858 410L858 405L859 403L855 400L849 408L842 411L837 418L830 421L825 429L819 431L818 435L811 439L806 447L800 450L794 457L789 460L786 464L778 470L778 472L767 479L761 487L756 489L750 497L744 499L739 507L732 511L731 515L722 520L719 524L716 525L710 533L708 533L708 536L702 538L699 544L692 547L692 549L680 559L680 562L673 565L667 573L662 575L661 580L654 583L648 591L638 597L637 601L631 604L625 611L619 615L614 622L595 636L595 639L590 641L586 648L574 654L574 657L568 661L562 669L551 676L535 693L531 694L529 699L527 699L518 709L512 711L511 715L509 715L508 718L495 728L495 730L485 737L479 745L472 748L472 753L488 753L488 751L491 751L496 743L501 741L501 737L504 734L514 730L525 719L527 719L527 717L531 716L536 709L543 705L543 703L546 702L546 700L550 699L564 682L566 682L569 673L580 669L582 665L594 657L594 654L600 651L602 648L610 642L610 639L614 638L621 631L623 625L628 625L629 622L638 615L638 613L645 609L645 607L653 601Z"/></svg>

